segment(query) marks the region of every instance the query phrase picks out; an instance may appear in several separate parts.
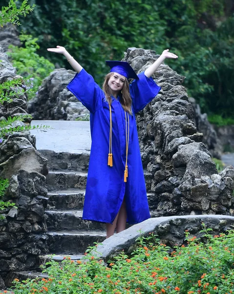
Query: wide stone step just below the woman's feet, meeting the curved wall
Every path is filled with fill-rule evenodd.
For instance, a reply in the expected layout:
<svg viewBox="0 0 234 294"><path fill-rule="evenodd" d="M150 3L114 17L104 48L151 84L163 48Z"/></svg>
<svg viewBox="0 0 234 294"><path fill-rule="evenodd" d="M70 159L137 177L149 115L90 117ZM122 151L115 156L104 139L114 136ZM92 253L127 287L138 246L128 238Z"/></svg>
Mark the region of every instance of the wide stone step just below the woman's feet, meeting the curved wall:
<svg viewBox="0 0 234 294"><path fill-rule="evenodd" d="M57 254L85 252L88 246L94 245L94 242L101 243L106 239L105 231L60 231L47 232L46 235L50 253Z"/></svg>

